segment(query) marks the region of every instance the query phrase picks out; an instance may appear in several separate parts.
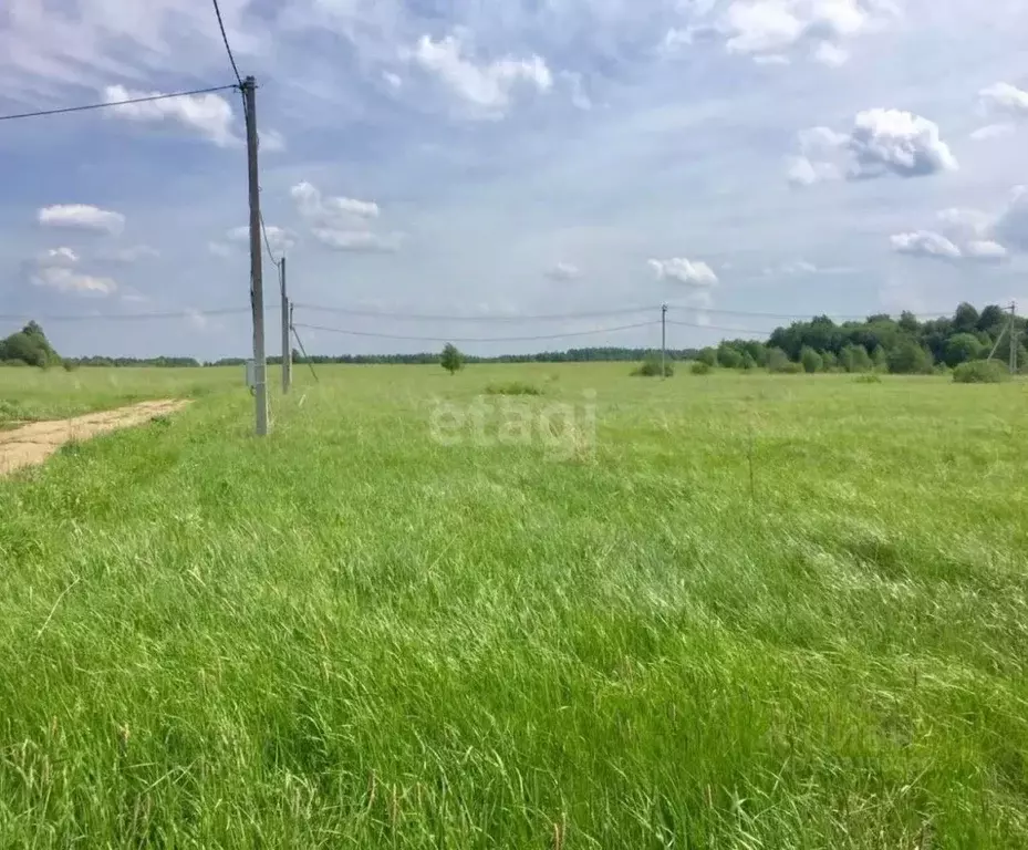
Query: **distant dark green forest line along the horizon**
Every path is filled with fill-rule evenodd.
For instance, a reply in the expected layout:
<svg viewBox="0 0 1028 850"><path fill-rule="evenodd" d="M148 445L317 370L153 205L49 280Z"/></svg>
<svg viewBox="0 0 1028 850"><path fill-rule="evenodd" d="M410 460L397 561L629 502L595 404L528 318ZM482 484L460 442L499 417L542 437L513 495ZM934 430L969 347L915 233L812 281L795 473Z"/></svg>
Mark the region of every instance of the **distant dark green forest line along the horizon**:
<svg viewBox="0 0 1028 850"><path fill-rule="evenodd" d="M818 317L778 328L766 341L726 340L706 349L668 350L672 360L696 360L725 369L768 369L772 372L887 371L896 374L927 374L939 367L954 367L968 361L987 357L998 348L996 356L1007 360L1009 333L1013 330L1018 352L1017 362L1028 367L1025 346L1028 321L996 304L980 312L968 303L960 304L952 318L920 321L913 313L899 318L880 313L864 321L832 321ZM442 350L442 346L440 346ZM594 363L642 361L654 350L593 346L546 351L537 354L505 354L495 357L465 356L466 363ZM439 352L420 354L340 354L304 357L293 351L297 363L438 363ZM281 357L269 357L272 365ZM30 365L43 369L63 365L79 366L227 366L242 365L245 357L227 357L201 363L193 357L61 357L50 345L43 329L30 322L18 333L0 340L0 364Z"/></svg>

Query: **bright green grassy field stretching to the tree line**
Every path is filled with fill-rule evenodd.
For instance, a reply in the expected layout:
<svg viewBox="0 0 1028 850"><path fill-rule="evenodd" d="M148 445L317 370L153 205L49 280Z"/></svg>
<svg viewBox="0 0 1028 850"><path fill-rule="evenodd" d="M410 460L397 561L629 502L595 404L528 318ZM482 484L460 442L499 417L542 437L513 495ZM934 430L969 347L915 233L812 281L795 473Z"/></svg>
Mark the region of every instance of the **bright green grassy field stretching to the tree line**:
<svg viewBox="0 0 1028 850"><path fill-rule="evenodd" d="M1028 386L627 371L162 373L0 480L0 846L1028 847Z"/></svg>

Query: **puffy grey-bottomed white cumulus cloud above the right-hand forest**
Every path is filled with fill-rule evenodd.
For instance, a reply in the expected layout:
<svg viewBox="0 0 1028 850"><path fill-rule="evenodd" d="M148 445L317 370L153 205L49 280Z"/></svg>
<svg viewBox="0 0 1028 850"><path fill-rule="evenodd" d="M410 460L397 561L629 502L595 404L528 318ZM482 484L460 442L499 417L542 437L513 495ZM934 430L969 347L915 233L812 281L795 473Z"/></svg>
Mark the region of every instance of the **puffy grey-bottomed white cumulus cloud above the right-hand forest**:
<svg viewBox="0 0 1028 850"><path fill-rule="evenodd" d="M924 177L959 167L935 122L901 110L866 110L849 135L812 127L800 131L798 141L803 155L790 160L786 175L798 186L843 173L850 179Z"/></svg>

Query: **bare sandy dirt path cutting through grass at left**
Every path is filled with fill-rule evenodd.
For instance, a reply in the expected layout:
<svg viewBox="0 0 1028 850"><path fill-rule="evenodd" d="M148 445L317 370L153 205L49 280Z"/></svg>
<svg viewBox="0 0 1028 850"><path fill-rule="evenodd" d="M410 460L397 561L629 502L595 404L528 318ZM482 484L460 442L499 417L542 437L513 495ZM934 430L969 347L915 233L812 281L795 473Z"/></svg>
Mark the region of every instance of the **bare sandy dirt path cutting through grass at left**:
<svg viewBox="0 0 1028 850"><path fill-rule="evenodd" d="M120 428L142 425L157 416L180 411L188 401L167 398L141 402L116 411L101 411L73 419L34 422L14 431L0 432L0 475L43 463L70 440L89 439Z"/></svg>

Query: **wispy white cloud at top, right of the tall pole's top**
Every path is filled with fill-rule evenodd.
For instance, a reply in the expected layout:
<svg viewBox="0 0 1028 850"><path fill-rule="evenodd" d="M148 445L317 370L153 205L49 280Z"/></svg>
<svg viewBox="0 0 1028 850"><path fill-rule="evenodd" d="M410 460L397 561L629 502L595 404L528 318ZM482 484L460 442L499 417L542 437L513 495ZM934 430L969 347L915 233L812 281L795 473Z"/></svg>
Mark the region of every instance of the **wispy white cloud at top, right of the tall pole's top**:
<svg viewBox="0 0 1028 850"><path fill-rule="evenodd" d="M484 117L505 115L518 85L543 93L553 87L553 75L541 56L505 58L476 64L465 55L465 45L455 35L440 41L423 35L407 58L438 76Z"/></svg>

